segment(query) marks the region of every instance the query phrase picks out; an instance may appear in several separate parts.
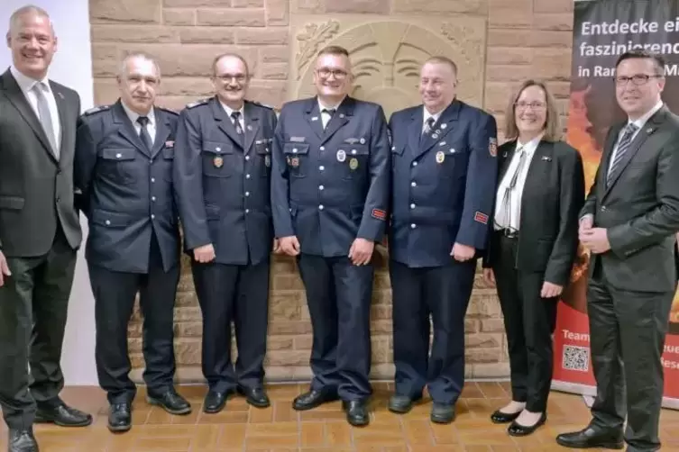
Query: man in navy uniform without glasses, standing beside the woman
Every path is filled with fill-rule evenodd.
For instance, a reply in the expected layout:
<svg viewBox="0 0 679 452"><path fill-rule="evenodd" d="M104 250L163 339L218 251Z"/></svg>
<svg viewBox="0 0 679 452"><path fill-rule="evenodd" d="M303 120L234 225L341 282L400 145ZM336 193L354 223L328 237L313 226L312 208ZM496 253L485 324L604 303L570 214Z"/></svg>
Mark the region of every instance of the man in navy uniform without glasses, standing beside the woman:
<svg viewBox="0 0 679 452"><path fill-rule="evenodd" d="M428 59L423 105L390 118L396 391L389 408L409 411L427 385L431 420L440 423L453 420L464 384L464 315L497 179L496 122L455 99L456 74L450 59Z"/></svg>

